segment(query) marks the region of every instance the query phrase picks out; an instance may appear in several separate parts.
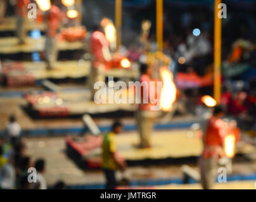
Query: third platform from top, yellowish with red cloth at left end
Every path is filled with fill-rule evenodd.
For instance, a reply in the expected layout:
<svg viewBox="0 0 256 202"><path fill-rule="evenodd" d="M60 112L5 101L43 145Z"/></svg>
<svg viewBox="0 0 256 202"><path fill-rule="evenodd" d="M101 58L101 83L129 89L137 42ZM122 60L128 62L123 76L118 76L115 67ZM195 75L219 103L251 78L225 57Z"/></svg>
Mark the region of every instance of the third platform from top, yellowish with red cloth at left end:
<svg viewBox="0 0 256 202"><path fill-rule="evenodd" d="M42 80L79 80L89 76L90 61L56 61L54 69L47 70L45 62L3 62L2 71L7 86L33 86ZM115 68L105 72L105 76L115 78L137 78L136 69Z"/></svg>

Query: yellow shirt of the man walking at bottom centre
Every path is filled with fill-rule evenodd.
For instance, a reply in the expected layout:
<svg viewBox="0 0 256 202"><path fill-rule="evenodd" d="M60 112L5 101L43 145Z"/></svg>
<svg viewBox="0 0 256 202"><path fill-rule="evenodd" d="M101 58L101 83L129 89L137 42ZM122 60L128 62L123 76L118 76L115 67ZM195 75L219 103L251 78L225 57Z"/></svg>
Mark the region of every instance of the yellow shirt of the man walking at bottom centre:
<svg viewBox="0 0 256 202"><path fill-rule="evenodd" d="M102 143L102 167L104 169L117 170L118 165L113 158L113 153L117 151L115 143L115 133L106 133Z"/></svg>

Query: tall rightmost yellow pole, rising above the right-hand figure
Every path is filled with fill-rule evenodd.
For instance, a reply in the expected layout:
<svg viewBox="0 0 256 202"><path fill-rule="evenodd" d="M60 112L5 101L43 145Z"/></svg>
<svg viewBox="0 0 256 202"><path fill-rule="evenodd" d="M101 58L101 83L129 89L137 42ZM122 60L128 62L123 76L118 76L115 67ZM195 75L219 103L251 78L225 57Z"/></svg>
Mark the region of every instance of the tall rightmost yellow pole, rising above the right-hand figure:
<svg viewBox="0 0 256 202"><path fill-rule="evenodd" d="M221 102L221 18L218 17L218 5L221 0L215 0L214 9L214 98Z"/></svg>

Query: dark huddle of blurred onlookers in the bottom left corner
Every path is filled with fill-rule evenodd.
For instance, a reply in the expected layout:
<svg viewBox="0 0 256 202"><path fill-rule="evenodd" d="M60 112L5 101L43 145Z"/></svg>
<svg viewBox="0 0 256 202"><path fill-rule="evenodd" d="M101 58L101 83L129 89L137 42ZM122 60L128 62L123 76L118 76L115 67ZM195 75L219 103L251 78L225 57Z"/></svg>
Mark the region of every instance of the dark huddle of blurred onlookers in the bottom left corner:
<svg viewBox="0 0 256 202"><path fill-rule="evenodd" d="M14 116L10 117L4 134L0 137L0 189L48 189L44 179L46 161L43 158L33 161L26 155L21 128ZM59 181L51 188L67 187Z"/></svg>

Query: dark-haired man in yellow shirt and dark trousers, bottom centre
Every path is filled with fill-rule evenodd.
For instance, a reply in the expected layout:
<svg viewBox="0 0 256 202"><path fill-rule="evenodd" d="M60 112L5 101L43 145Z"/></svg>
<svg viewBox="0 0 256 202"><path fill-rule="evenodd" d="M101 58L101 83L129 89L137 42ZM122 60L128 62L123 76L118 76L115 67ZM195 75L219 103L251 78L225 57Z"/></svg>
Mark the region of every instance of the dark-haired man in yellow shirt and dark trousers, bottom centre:
<svg viewBox="0 0 256 202"><path fill-rule="evenodd" d="M112 131L103 136L102 143L102 168L106 177L106 189L115 189L117 180L115 172L118 169L125 170L126 163L123 157L117 153L116 134L122 132L122 124L115 122Z"/></svg>

